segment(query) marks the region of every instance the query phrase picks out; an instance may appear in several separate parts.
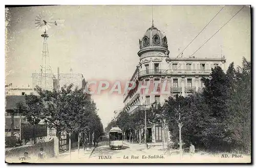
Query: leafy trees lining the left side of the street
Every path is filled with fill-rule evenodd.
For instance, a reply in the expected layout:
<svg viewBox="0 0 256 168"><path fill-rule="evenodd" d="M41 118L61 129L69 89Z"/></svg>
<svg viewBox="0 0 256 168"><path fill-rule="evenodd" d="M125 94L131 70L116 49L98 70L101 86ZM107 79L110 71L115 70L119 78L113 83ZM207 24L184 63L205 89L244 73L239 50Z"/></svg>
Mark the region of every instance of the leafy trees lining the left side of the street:
<svg viewBox="0 0 256 168"><path fill-rule="evenodd" d="M103 134L96 104L83 89L71 84L52 91L36 87L35 91L36 94L25 95L26 104L17 104L17 112L22 112L31 125L43 122L48 128L56 129L57 138L61 132L66 132L70 138L73 132L78 133L78 149L81 133L85 135L83 141L92 134L94 138ZM92 144L92 138L89 139ZM69 142L70 149L71 139Z"/></svg>

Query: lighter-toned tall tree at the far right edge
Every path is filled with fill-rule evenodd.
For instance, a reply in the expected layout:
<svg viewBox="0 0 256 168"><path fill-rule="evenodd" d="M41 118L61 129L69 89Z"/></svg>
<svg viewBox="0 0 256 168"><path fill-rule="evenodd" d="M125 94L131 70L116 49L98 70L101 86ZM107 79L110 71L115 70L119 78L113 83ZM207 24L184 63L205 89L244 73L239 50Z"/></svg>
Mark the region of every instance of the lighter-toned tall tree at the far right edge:
<svg viewBox="0 0 256 168"><path fill-rule="evenodd" d="M228 131L233 148L250 153L251 148L251 63L243 58L233 80L233 92L228 101Z"/></svg>

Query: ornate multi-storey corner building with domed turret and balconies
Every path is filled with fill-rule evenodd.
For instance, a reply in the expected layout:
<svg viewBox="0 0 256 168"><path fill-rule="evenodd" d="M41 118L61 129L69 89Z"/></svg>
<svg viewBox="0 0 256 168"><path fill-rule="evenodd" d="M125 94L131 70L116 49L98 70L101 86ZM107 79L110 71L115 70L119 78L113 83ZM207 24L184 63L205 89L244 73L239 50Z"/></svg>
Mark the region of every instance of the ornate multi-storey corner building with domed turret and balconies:
<svg viewBox="0 0 256 168"><path fill-rule="evenodd" d="M164 101L169 96L176 94L187 96L195 92L200 92L204 83L201 82L202 77L209 77L211 68L220 66L225 68L225 58L208 58L202 55L201 58L188 57L183 55L179 57L170 58L167 38L160 30L152 25L147 29L146 33L139 40L140 50L138 51L139 64L131 78L138 85L140 81L144 85L154 86L154 82L166 82L165 92L159 94L146 93L140 87L129 91L123 95L124 108L128 113L143 113L144 108L150 109L154 102L164 104ZM156 91L161 90L161 85ZM143 93L144 92L144 93ZM141 107L144 107L141 109ZM163 129L163 131L162 131ZM163 136L162 136L163 132ZM144 127L135 131L134 136L139 137L144 134ZM136 138L138 139L138 138ZM170 141L170 133L167 126L162 128L161 123L153 123L147 125L147 143Z"/></svg>

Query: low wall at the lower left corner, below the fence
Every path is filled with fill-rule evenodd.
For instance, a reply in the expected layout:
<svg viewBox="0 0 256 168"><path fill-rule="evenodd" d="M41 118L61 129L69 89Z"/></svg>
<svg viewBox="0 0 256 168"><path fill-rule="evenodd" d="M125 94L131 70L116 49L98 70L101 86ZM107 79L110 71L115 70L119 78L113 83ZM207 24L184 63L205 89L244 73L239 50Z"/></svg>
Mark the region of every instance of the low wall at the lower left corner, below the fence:
<svg viewBox="0 0 256 168"><path fill-rule="evenodd" d="M24 156L24 152L28 152L29 156L31 157L37 157L38 153L40 152L40 148L44 148L46 157L54 157L54 139L45 143L6 149L5 157L22 157Z"/></svg>

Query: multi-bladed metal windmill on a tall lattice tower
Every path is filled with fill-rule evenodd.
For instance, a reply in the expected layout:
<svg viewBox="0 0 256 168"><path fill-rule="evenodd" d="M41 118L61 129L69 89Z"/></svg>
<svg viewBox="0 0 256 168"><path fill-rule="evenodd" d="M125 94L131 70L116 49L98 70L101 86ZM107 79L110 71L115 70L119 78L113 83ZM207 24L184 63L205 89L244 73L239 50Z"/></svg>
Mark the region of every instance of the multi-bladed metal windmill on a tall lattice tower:
<svg viewBox="0 0 256 168"><path fill-rule="evenodd" d="M51 25L63 24L65 20L53 20L53 16L50 12L41 12L36 16L35 25L39 31L44 32L41 37L44 38L42 46L42 62L40 65L40 87L42 89L50 88L47 86L47 78L52 75L52 68L50 66L49 50L47 39L49 38L47 31L51 28Z"/></svg>

